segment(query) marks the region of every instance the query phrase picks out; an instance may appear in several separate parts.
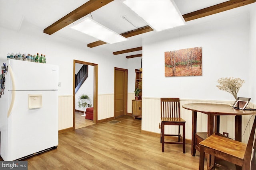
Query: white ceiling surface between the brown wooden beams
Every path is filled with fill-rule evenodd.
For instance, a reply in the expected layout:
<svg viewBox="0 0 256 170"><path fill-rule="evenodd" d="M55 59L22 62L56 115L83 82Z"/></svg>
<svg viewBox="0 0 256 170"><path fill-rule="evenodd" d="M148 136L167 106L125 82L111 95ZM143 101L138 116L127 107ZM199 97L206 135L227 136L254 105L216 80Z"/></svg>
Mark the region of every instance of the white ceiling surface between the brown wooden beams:
<svg viewBox="0 0 256 170"><path fill-rule="evenodd" d="M143 27L148 25L136 14L134 14L129 8L127 8L122 3L122 1L123 0L114 0L106 6L103 6L102 8L92 12L92 18L98 23L101 23L102 25L112 29L117 33L124 33L126 31L134 30L136 29L136 27ZM178 9L180 10L180 13L187 14L189 12L200 10L202 8L206 8L215 4L220 4L227 0L174 1ZM20 27L24 26L24 21L26 21L33 24L35 26L35 29L40 29L43 32L46 27L86 2L88 2L88 0L0 0L0 26L19 31ZM212 16L188 21L186 22L186 25L182 27L187 27L191 24L207 22L209 20L218 20L223 17L238 15L239 12L244 12L245 10L248 10L246 6L239 7L239 9L235 8L227 12L222 12L222 14L214 14ZM91 15L89 14L88 17L91 18ZM135 25L136 27L131 25L128 21L124 20L122 16L125 16L125 18L132 22L133 25ZM71 39L72 41L82 43L84 44L85 48L89 48L87 47L88 43L98 41L98 39L95 39L88 35L84 35L76 30L71 29L70 25L57 31L53 35L58 35L67 39ZM172 31L172 29L166 30L166 32L168 31ZM105 44L94 48L107 49L112 53L114 51L140 47L142 46L142 38L150 36L152 34L157 34L157 32L151 31L148 33L136 35L134 37L129 37L129 41L112 45ZM125 57L127 55L134 55L139 53L142 52L137 51L117 56Z"/></svg>

